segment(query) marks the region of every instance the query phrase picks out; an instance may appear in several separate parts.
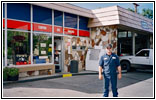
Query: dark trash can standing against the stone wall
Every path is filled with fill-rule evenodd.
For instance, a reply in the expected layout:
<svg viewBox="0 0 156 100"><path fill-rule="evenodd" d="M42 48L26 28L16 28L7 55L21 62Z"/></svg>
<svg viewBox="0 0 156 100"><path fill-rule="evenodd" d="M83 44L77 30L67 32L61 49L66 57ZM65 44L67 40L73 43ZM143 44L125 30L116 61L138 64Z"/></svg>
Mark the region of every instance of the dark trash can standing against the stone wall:
<svg viewBox="0 0 156 100"><path fill-rule="evenodd" d="M78 61L77 60L71 60L70 62L70 72L71 73L78 73Z"/></svg>

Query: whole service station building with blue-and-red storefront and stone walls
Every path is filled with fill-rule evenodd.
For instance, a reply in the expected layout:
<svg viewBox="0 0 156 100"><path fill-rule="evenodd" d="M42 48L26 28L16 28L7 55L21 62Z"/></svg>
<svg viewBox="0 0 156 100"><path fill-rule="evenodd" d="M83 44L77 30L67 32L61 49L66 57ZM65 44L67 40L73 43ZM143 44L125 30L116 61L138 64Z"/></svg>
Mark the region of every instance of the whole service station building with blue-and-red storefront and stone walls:
<svg viewBox="0 0 156 100"><path fill-rule="evenodd" d="M17 67L26 77L69 72L70 61L77 60L82 71L88 48L112 43L118 55L152 48L152 22L118 6L4 3L3 66Z"/></svg>

